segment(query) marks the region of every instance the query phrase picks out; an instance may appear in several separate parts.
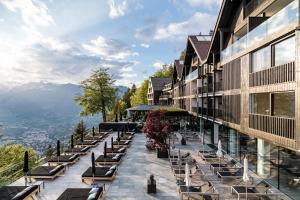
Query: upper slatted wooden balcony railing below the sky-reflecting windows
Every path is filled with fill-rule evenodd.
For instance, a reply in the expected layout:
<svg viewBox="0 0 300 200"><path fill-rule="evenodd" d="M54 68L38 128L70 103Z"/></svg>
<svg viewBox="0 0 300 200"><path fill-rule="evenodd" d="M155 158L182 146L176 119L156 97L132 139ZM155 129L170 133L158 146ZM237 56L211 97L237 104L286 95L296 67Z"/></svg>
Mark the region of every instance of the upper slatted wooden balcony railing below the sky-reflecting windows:
<svg viewBox="0 0 300 200"><path fill-rule="evenodd" d="M249 75L250 87L292 81L295 81L295 62L271 67Z"/></svg>

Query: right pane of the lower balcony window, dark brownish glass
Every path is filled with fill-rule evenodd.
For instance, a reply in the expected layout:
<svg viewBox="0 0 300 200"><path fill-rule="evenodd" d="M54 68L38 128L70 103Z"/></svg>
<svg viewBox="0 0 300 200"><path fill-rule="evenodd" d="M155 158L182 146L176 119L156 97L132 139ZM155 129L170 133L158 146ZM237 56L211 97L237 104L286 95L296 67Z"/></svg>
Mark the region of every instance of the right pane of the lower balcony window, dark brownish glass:
<svg viewBox="0 0 300 200"><path fill-rule="evenodd" d="M295 93L280 92L272 94L272 115L295 117Z"/></svg>

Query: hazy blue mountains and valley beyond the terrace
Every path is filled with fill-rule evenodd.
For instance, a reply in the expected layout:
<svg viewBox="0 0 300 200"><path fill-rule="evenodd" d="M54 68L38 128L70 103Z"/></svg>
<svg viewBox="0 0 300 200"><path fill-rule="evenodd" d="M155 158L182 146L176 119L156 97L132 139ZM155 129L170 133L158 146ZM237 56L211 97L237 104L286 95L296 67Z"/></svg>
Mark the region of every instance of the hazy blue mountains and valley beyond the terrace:
<svg viewBox="0 0 300 200"><path fill-rule="evenodd" d="M117 87L119 96L128 89ZM2 144L12 141L42 152L57 139L67 142L80 120L81 107L74 97L82 93L80 85L43 82L0 88ZM91 127L101 122L101 116L85 117L84 121Z"/></svg>

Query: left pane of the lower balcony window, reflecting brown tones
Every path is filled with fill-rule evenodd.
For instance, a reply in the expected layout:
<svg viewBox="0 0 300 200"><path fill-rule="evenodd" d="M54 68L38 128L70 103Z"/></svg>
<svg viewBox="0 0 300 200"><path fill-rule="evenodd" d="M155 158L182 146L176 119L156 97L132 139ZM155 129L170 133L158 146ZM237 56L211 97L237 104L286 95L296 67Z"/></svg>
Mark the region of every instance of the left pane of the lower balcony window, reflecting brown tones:
<svg viewBox="0 0 300 200"><path fill-rule="evenodd" d="M270 96L269 93L251 94L250 112L255 114L270 114Z"/></svg>

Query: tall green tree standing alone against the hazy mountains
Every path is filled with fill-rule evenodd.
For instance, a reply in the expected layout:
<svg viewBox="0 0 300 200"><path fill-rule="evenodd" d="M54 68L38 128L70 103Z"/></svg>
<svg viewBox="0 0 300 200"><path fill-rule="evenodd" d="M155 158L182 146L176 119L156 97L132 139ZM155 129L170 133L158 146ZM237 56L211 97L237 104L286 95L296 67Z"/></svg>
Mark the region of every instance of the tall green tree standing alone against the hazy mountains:
<svg viewBox="0 0 300 200"><path fill-rule="evenodd" d="M108 73L107 68L101 68L82 82L83 96L75 97L75 101L83 106L81 116L102 113L103 121L106 121L106 113L112 109L117 96L114 87L115 80Z"/></svg>

